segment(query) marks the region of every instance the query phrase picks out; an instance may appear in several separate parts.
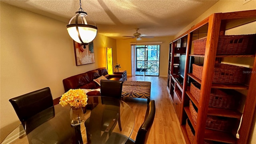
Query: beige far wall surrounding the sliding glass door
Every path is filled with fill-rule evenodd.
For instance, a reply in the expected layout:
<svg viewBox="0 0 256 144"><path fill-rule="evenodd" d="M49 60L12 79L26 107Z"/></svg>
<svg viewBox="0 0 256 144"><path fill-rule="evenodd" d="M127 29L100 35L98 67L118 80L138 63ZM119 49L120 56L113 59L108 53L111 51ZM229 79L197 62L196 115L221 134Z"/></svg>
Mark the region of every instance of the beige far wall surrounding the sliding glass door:
<svg viewBox="0 0 256 144"><path fill-rule="evenodd" d="M137 42L162 42L160 44L160 66L159 66L159 76L167 77L168 72L168 53L169 53L169 43L174 39L173 36L164 37L154 37L154 38L142 38ZM126 40L116 40L117 46L117 61L121 65L120 70L127 70L127 75L131 76L132 66L131 66L131 44L136 42L135 38ZM116 63L114 63L116 64Z"/></svg>

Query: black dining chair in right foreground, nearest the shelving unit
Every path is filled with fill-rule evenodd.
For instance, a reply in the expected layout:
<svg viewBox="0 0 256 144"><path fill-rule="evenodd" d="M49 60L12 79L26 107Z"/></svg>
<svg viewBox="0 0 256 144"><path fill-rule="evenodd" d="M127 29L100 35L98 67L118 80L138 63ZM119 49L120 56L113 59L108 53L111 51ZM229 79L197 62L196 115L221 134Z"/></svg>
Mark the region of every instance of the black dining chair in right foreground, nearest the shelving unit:
<svg viewBox="0 0 256 144"><path fill-rule="evenodd" d="M131 138L128 138L126 144L146 144L147 143L148 135L152 127L152 124L154 122L155 114L156 114L155 101L150 100L147 111L146 111L146 116L144 118L144 122L142 123L142 125L138 130L136 140L134 141ZM118 141L122 142L124 139L127 139L127 137L122 134L113 132L111 136L108 138L108 140L106 141L106 144L117 144Z"/></svg>

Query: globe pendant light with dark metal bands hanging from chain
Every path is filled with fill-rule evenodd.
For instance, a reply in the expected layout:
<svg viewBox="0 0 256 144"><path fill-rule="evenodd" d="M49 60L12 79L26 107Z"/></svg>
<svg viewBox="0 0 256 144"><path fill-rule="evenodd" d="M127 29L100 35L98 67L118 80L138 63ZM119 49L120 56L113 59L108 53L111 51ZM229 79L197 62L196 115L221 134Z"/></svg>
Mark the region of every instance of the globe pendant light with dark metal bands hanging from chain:
<svg viewBox="0 0 256 144"><path fill-rule="evenodd" d="M78 42L81 45L84 45L84 48L86 48L85 46L89 42L92 42L96 37L98 28L94 20L92 21L94 22L95 26L87 24L85 17L88 15L86 12L84 12L81 6L82 6L82 3L80 0L80 8L78 12L76 12L76 15L70 19L67 25L67 30L68 30L68 34L74 41ZM75 21L74 23L72 23L73 19Z"/></svg>

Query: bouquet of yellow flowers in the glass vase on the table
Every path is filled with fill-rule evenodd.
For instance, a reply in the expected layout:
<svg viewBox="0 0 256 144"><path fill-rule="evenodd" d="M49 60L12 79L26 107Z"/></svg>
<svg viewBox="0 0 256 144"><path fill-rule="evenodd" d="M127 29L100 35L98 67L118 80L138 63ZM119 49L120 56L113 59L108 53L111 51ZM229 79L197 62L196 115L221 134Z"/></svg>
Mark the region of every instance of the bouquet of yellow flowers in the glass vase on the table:
<svg viewBox="0 0 256 144"><path fill-rule="evenodd" d="M87 105L87 95L84 90L70 89L68 92L62 94L60 104L62 106L70 105L74 108L81 108Z"/></svg>

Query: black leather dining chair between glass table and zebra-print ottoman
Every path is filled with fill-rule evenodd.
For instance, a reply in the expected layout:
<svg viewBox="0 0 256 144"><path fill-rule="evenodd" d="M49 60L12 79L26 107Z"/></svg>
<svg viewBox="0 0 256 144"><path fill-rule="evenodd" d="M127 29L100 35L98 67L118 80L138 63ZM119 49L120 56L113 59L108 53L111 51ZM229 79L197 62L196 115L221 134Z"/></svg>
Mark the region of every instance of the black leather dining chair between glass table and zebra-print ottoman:
<svg viewBox="0 0 256 144"><path fill-rule="evenodd" d="M121 122L120 122L120 100L122 95L122 81L117 80L101 80L100 81L100 95L101 102L104 105L104 108L101 110L102 117L95 118L96 110L92 110L90 118L88 118L84 125L86 127L86 134L88 142L95 142L95 137L90 138L90 135L99 131L108 131L108 134L112 134L112 130L118 122L120 131L122 131ZM111 98L108 98L111 97ZM101 114L99 114L101 115ZM93 119L93 120L92 120ZM93 121L93 122L90 122ZM90 128L92 125L100 123L100 127ZM96 137L97 138L97 137ZM104 139L103 136L99 136L99 139Z"/></svg>

